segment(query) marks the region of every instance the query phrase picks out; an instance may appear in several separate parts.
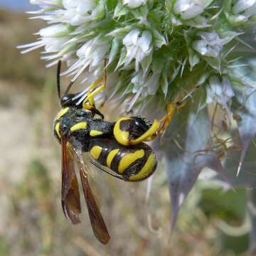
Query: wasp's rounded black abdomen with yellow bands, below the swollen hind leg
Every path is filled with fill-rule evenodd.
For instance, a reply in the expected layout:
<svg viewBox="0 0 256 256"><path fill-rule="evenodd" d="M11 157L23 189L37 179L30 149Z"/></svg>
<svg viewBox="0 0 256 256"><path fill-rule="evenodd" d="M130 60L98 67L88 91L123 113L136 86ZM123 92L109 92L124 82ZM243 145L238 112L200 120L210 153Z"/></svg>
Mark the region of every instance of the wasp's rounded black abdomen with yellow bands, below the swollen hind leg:
<svg viewBox="0 0 256 256"><path fill-rule="evenodd" d="M89 152L95 161L106 166L126 181L142 181L154 173L156 156L150 146L122 146L114 139L95 139Z"/></svg>

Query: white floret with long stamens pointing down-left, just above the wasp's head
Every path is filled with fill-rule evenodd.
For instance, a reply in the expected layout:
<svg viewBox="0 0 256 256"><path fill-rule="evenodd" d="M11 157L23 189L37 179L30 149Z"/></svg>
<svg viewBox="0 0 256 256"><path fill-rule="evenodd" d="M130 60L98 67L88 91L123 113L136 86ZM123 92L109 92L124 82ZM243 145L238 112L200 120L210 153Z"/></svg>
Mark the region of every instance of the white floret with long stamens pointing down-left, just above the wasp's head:
<svg viewBox="0 0 256 256"><path fill-rule="evenodd" d="M86 68L89 68L89 72L97 79L104 69L104 60L109 50L109 41L103 40L100 36L92 38L77 50L78 60L63 75L75 74L72 79L74 81Z"/></svg>

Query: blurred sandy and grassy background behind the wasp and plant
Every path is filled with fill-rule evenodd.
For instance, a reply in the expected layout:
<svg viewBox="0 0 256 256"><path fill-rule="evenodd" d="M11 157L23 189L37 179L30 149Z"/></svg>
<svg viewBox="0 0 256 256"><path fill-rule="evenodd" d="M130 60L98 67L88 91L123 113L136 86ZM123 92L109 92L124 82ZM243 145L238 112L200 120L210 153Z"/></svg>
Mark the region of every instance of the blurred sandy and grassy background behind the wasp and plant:
<svg viewBox="0 0 256 256"><path fill-rule="evenodd" d="M149 201L146 181L124 183L97 171L108 245L94 237L85 203L82 223L68 223L60 205L60 146L52 134L59 109L55 67L46 69L39 51L16 49L43 27L28 20L24 11L31 9L25 0L0 1L0 255L246 255L245 188L222 191L198 181L171 234L163 163Z"/></svg>

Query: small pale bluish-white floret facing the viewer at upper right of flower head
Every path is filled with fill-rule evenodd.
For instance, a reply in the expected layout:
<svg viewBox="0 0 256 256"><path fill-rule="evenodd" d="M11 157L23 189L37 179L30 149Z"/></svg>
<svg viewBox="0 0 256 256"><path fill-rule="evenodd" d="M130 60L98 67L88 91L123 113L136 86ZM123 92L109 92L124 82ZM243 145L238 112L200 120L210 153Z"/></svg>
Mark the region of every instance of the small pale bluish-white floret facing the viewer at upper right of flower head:
<svg viewBox="0 0 256 256"><path fill-rule="evenodd" d="M193 48L203 56L218 57L223 45L230 41L230 38L220 38L215 32L198 32L201 40L193 42Z"/></svg>

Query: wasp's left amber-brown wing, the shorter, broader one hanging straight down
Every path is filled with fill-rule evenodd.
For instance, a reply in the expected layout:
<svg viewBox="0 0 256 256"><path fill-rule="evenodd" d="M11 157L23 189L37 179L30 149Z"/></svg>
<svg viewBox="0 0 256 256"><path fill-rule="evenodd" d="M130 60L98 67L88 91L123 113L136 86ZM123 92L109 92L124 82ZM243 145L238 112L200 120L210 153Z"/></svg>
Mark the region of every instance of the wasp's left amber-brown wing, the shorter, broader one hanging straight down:
<svg viewBox="0 0 256 256"><path fill-rule="evenodd" d="M80 223L78 215L81 213L78 179L75 176L75 159L72 145L63 137L62 148L62 190L61 204L65 217L73 224Z"/></svg>

